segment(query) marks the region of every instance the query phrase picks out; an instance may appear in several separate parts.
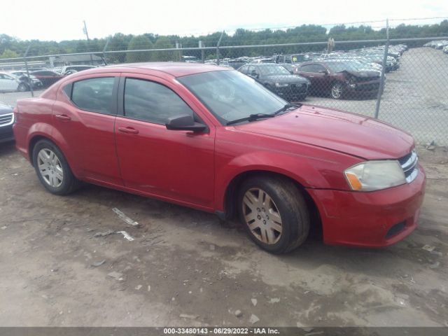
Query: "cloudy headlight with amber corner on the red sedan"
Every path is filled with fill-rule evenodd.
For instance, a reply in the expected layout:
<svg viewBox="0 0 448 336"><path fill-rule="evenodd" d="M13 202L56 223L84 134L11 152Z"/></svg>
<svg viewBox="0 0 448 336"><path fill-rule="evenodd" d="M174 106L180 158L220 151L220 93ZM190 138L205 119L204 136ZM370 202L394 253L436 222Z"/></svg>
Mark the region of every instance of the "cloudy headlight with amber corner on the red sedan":
<svg viewBox="0 0 448 336"><path fill-rule="evenodd" d="M405 173L397 160L366 161L344 171L351 190L373 191L406 183Z"/></svg>

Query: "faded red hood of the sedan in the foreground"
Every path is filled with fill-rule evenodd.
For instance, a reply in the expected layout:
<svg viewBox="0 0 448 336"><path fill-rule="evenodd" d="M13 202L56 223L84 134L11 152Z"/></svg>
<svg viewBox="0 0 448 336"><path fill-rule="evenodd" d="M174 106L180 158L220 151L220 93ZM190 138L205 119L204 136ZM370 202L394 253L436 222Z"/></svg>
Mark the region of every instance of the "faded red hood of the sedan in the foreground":
<svg viewBox="0 0 448 336"><path fill-rule="evenodd" d="M410 134L369 117L302 106L275 118L236 126L242 132L310 144L367 160L397 159L414 147Z"/></svg>

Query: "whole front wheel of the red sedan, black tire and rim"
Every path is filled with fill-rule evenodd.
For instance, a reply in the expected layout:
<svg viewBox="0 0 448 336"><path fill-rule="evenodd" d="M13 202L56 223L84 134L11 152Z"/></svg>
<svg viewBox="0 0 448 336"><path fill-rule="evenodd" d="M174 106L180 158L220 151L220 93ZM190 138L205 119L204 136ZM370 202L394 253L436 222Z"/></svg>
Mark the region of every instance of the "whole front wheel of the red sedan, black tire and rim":
<svg viewBox="0 0 448 336"><path fill-rule="evenodd" d="M304 197L288 179L249 178L242 183L237 202L239 220L265 251L287 253L307 239L309 211Z"/></svg>

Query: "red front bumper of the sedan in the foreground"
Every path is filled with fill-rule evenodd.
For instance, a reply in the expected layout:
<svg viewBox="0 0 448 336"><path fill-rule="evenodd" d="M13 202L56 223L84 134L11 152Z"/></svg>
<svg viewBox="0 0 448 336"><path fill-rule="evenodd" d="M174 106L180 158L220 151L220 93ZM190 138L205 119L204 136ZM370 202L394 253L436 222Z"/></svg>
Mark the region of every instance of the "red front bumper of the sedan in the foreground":
<svg viewBox="0 0 448 336"><path fill-rule="evenodd" d="M395 244L416 228L426 184L411 183L370 193L308 189L321 215L323 241L360 247Z"/></svg>

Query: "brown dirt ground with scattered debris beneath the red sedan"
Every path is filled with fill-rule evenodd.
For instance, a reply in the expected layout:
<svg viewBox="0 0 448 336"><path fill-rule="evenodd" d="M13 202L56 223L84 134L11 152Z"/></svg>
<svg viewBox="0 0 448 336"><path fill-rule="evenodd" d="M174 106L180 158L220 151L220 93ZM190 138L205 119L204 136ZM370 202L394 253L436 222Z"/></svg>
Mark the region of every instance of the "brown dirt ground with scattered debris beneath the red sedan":
<svg viewBox="0 0 448 336"><path fill-rule="evenodd" d="M412 235L276 256L212 214L97 186L51 195L3 144L0 324L448 326L448 153L418 151L428 184ZM134 240L111 233L123 230Z"/></svg>

